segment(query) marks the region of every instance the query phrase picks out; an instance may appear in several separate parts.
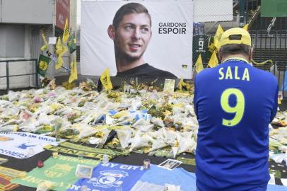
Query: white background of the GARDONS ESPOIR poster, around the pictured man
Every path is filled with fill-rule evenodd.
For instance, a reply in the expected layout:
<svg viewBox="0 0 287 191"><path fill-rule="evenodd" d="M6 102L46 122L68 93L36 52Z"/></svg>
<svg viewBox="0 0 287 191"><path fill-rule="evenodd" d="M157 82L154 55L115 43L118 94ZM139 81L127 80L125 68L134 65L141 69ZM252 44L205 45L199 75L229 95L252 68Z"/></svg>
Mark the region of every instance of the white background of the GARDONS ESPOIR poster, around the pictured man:
<svg viewBox="0 0 287 191"><path fill-rule="evenodd" d="M82 1L81 74L100 76L110 68L117 74L114 41L107 33L117 10L124 4L144 5L151 15L151 38L144 62L169 71L177 78L192 78L193 1ZM137 47L131 47L136 49Z"/></svg>

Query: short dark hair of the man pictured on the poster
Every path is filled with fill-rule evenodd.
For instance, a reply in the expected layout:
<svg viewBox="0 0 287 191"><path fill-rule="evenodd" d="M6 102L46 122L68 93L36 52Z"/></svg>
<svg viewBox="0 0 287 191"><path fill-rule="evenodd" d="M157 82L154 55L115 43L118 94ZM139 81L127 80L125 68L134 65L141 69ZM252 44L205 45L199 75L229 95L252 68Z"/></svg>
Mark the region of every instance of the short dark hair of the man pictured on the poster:
<svg viewBox="0 0 287 191"><path fill-rule="evenodd" d="M151 15L148 13L148 9L145 6L138 3L129 3L124 4L119 8L119 10L117 10L115 17L112 20L112 25L114 26L114 28L117 30L117 27L119 26L119 23L122 21L122 18L131 13L146 13L151 23Z"/></svg>

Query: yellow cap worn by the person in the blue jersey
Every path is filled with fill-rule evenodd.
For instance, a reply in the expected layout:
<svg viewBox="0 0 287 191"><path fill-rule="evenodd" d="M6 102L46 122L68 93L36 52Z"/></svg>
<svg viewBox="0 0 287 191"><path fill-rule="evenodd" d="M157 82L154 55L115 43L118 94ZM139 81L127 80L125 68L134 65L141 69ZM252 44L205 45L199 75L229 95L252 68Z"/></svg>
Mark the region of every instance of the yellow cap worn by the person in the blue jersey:
<svg viewBox="0 0 287 191"><path fill-rule="evenodd" d="M251 46L251 37L247 30L230 28L221 35L220 45L243 44Z"/></svg>

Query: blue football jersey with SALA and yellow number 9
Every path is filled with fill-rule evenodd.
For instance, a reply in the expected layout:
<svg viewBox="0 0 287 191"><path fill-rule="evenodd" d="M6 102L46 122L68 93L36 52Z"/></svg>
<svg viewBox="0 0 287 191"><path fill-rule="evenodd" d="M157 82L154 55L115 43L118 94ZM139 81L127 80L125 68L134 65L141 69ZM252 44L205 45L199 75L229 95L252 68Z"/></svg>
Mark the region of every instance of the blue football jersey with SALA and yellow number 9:
<svg viewBox="0 0 287 191"><path fill-rule="evenodd" d="M228 59L201 71L194 83L199 190L266 190L275 76L243 59Z"/></svg>

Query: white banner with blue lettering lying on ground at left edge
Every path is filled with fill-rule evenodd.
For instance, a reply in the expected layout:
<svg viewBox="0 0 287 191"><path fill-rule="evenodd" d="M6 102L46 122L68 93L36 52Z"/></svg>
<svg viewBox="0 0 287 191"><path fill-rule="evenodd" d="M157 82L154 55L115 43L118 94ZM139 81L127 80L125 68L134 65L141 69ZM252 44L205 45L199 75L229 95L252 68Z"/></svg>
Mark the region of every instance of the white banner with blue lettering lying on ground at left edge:
<svg viewBox="0 0 287 191"><path fill-rule="evenodd" d="M54 137L28 132L0 132L0 154L29 158L44 151L43 146L59 142Z"/></svg>

